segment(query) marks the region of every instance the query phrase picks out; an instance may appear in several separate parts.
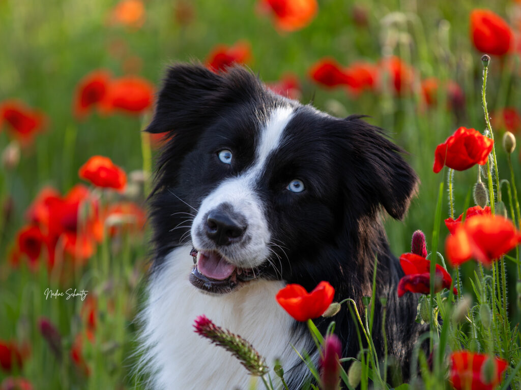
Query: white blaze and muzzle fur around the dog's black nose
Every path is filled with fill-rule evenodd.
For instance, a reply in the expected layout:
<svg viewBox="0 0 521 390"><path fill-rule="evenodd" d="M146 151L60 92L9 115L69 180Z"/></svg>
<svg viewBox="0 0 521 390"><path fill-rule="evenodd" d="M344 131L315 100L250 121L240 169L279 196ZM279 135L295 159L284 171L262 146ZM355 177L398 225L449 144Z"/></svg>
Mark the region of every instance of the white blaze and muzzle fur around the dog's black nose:
<svg viewBox="0 0 521 390"><path fill-rule="evenodd" d="M231 205L233 212L244 216L247 228L241 242L222 246L219 249L230 263L241 268L253 268L264 263L269 254L268 228L265 207L255 192L255 184L264 173L270 154L277 150L282 141L284 128L293 116L293 108L281 107L271 112L262 129L255 150L254 164L239 176L223 180L210 192L199 207L192 224L192 243L199 250L215 250L215 243L205 235L205 216L222 203Z"/></svg>

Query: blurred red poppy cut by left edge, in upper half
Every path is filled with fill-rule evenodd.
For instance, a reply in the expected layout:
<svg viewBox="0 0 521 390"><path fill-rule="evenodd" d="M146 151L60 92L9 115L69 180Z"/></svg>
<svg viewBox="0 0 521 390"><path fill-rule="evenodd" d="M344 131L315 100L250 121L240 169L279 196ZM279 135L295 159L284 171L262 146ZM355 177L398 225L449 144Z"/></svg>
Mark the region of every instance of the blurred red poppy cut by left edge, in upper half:
<svg viewBox="0 0 521 390"><path fill-rule="evenodd" d="M9 133L22 145L29 145L34 136L41 132L46 122L45 115L39 110L27 107L18 100L4 100L0 103L0 128L8 125Z"/></svg>

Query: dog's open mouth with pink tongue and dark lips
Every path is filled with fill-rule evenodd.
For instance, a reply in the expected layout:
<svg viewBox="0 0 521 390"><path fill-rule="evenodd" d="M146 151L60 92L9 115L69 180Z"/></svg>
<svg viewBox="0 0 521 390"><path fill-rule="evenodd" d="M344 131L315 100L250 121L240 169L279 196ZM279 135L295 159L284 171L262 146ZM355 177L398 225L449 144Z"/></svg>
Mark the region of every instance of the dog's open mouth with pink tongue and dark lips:
<svg viewBox="0 0 521 390"><path fill-rule="evenodd" d="M192 249L190 255L195 264L190 274L190 282L206 292L226 294L239 284L256 279L261 274L258 270L239 268L215 251Z"/></svg>

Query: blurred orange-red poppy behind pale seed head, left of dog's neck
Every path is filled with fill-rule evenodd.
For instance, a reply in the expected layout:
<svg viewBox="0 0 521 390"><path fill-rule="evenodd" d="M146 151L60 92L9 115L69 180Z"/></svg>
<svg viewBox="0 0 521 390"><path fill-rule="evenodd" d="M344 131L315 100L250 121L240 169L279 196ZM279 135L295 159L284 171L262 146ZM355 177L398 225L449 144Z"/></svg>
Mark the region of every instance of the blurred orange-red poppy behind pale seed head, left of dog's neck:
<svg viewBox="0 0 521 390"><path fill-rule="evenodd" d="M143 231L146 215L134 202L119 202L107 207L104 220L109 236L113 237L123 231L130 233Z"/></svg>

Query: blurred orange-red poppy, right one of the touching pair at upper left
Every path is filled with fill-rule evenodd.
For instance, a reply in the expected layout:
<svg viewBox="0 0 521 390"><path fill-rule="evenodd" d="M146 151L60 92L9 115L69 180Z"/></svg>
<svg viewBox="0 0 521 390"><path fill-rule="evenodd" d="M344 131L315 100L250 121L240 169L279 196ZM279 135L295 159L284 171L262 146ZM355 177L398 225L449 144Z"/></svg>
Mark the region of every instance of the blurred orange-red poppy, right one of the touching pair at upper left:
<svg viewBox="0 0 521 390"><path fill-rule="evenodd" d="M128 114L141 114L154 102L154 86L139 76L125 76L108 84L105 97L100 103L104 113L113 110Z"/></svg>

